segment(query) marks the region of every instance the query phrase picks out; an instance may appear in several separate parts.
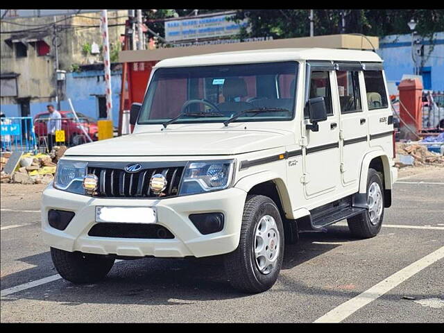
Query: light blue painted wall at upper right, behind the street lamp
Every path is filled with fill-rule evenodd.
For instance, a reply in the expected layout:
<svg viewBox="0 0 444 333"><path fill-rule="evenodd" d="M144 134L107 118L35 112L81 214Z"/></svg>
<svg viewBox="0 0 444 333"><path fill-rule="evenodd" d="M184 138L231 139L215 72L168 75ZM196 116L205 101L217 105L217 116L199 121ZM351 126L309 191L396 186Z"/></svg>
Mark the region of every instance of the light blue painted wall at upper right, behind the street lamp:
<svg viewBox="0 0 444 333"><path fill-rule="evenodd" d="M415 39L422 37L415 36ZM428 38L421 41L424 45L424 57L427 59L423 67L429 70L430 77L423 77L423 82L429 80L430 89L444 90L444 32L434 35L434 49L429 54L430 43ZM413 74L413 60L411 58L411 35L388 35L379 40L379 56L384 60L384 70L388 81L399 82L403 74ZM417 56L418 57L418 56ZM428 57L428 58L427 58ZM418 66L420 58L417 60ZM427 68L429 67L429 68ZM428 75L428 74L427 74Z"/></svg>

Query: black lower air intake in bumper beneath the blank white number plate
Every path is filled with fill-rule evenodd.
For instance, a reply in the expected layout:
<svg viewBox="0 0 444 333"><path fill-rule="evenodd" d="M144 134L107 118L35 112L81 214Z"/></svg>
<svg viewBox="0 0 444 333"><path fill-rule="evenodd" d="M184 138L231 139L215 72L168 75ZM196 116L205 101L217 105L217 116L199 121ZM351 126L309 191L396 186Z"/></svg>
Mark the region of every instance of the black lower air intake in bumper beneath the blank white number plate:
<svg viewBox="0 0 444 333"><path fill-rule="evenodd" d="M89 230L88 236L139 239L174 238L171 231L162 225L141 223L97 223Z"/></svg>

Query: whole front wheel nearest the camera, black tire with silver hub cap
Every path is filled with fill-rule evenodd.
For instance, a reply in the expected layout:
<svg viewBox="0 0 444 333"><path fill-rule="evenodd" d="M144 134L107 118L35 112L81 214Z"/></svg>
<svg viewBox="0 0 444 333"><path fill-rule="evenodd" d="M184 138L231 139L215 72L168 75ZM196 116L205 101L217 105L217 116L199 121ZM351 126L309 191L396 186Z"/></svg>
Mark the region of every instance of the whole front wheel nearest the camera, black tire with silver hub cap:
<svg viewBox="0 0 444 333"><path fill-rule="evenodd" d="M248 196L239 246L224 257L232 287L247 293L270 289L284 257L284 228L278 207L266 196Z"/></svg>

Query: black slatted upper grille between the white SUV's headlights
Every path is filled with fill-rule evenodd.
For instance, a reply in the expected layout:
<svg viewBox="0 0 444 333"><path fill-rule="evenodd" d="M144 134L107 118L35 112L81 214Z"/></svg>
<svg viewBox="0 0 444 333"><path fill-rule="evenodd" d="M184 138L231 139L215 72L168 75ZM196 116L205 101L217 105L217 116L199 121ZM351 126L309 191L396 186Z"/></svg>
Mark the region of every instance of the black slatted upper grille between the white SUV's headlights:
<svg viewBox="0 0 444 333"><path fill-rule="evenodd" d="M99 198L168 198L177 196L184 167L160 167L128 173L123 169L88 166L87 173L99 178L94 196ZM150 189L151 177L162 173L167 178L167 188L161 194Z"/></svg>

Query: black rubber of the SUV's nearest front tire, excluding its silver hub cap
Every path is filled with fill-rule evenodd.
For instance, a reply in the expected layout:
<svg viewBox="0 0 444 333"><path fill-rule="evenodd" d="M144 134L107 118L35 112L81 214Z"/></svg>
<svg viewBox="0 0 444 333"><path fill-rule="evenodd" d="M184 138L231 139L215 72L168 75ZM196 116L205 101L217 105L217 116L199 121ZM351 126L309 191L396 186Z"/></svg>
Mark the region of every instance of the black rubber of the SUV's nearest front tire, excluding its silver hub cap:
<svg viewBox="0 0 444 333"><path fill-rule="evenodd" d="M275 220L279 237L279 252L276 254L273 268L262 273L259 271L254 255L255 231L260 219L266 215ZM224 256L225 272L232 287L246 293L261 293L270 289L278 280L283 257L284 228L278 207L271 198L266 196L247 196L239 246L232 253Z"/></svg>

